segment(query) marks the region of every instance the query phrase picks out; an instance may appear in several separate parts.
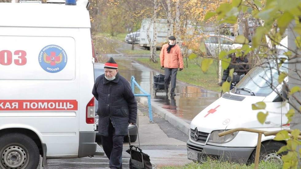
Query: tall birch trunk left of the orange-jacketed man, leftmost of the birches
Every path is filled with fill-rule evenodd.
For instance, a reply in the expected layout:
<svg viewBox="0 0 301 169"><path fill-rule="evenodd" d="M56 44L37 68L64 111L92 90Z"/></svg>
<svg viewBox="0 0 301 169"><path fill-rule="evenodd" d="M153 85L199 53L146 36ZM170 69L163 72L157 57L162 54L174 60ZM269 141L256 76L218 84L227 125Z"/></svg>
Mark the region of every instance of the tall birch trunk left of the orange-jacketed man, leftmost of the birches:
<svg viewBox="0 0 301 169"><path fill-rule="evenodd" d="M157 51L157 10L158 10L158 2L157 0L154 0L154 12L152 16L152 21L151 23L153 24L153 40L150 41L150 51L151 51L151 56L150 60L153 61L154 63L157 63L156 59L156 51ZM149 38L150 40L150 38Z"/></svg>

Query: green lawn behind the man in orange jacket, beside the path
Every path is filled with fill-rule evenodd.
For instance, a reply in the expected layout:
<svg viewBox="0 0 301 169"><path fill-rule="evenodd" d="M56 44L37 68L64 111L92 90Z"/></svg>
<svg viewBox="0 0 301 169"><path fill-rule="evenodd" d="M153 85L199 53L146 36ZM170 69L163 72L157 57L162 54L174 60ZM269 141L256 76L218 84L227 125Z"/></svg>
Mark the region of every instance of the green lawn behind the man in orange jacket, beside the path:
<svg viewBox="0 0 301 169"><path fill-rule="evenodd" d="M160 59L159 58L157 59L158 59L158 63L151 62L149 58L137 58L136 60L159 71L161 67ZM184 69L182 71L178 71L177 74L178 80L185 83L201 86L207 90L212 90L217 92L221 91L221 87L218 86L216 63L211 64L208 71L206 73L203 73L201 67L199 66L201 65L201 59L195 59L194 61L189 59L187 60L188 60L188 68L186 68L186 63L184 62ZM186 61L185 58L184 61ZM197 65L197 63L199 65Z"/></svg>

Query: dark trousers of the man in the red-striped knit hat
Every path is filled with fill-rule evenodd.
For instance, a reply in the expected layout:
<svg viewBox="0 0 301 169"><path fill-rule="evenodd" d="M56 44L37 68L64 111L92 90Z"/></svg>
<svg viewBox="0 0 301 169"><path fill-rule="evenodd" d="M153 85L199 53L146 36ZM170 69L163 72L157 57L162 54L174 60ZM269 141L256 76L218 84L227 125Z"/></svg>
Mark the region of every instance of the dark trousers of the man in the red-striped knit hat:
<svg viewBox="0 0 301 169"><path fill-rule="evenodd" d="M122 168L122 148L123 148L123 135L116 136L115 129L109 122L109 136L101 136L101 144L104 148L104 153L110 159L110 168Z"/></svg>

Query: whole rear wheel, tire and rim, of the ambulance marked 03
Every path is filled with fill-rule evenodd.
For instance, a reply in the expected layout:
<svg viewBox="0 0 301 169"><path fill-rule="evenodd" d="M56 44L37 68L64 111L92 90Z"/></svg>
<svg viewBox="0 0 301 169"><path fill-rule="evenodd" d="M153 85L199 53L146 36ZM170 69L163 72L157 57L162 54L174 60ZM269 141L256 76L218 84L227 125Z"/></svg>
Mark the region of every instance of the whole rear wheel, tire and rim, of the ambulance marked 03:
<svg viewBox="0 0 301 169"><path fill-rule="evenodd" d="M40 160L37 144L21 133L9 133L0 137L0 155L2 169L36 169Z"/></svg>

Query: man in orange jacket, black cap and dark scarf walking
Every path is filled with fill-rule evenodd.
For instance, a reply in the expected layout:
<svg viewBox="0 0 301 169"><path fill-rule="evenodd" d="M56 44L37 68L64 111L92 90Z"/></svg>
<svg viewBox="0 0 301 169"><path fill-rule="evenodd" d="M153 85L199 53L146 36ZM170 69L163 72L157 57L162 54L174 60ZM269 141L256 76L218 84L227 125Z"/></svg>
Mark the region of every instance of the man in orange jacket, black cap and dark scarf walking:
<svg viewBox="0 0 301 169"><path fill-rule="evenodd" d="M170 36L169 43L164 44L160 53L161 67L165 68L165 92L168 94L168 86L171 78L171 90L170 95L175 96L174 89L176 88L177 71L183 70L183 58L181 54L180 46L176 44L176 38Z"/></svg>

